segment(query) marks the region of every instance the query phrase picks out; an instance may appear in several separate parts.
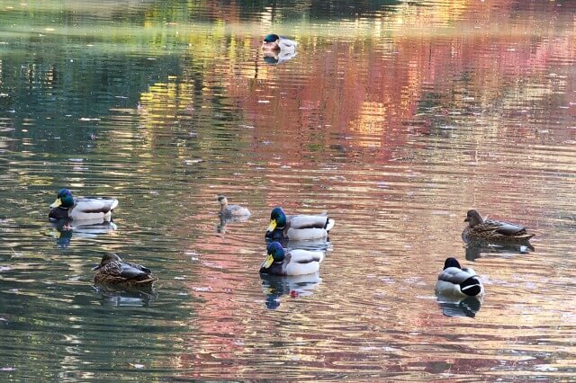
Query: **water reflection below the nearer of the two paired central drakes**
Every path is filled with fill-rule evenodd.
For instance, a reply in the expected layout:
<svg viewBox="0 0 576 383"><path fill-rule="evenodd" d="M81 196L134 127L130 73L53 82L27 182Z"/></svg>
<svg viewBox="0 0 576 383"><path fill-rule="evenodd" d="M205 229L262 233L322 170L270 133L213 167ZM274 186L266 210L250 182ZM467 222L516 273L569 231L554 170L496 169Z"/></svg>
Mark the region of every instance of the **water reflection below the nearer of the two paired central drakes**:
<svg viewBox="0 0 576 383"><path fill-rule="evenodd" d="M280 307L283 295L292 298L310 297L322 281L318 272L294 276L260 274L260 279L262 291L266 295L266 307L272 310Z"/></svg>

